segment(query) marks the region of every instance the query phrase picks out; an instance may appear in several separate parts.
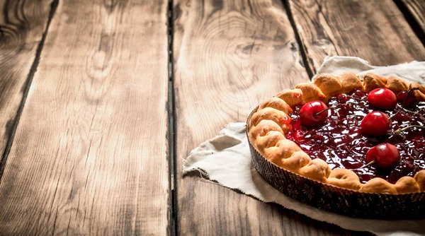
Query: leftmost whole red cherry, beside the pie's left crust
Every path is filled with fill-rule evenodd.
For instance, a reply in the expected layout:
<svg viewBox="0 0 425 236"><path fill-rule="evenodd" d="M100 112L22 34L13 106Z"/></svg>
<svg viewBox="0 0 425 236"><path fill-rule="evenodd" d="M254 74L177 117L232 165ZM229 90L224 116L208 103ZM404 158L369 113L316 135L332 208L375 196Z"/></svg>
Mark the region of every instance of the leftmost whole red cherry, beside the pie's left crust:
<svg viewBox="0 0 425 236"><path fill-rule="evenodd" d="M305 126L323 124L328 117L327 112L323 112L324 110L327 110L327 105L321 101L307 102L300 109L300 119L302 124Z"/></svg>

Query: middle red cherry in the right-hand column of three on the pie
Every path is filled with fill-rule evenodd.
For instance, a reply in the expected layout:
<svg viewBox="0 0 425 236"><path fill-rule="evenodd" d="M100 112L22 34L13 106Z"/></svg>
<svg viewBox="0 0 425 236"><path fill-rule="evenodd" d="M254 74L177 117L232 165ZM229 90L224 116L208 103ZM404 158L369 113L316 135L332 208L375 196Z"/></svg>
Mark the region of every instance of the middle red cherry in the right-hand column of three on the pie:
<svg viewBox="0 0 425 236"><path fill-rule="evenodd" d="M391 127L390 117L383 112L370 112L361 121L361 133L367 136L387 135Z"/></svg>

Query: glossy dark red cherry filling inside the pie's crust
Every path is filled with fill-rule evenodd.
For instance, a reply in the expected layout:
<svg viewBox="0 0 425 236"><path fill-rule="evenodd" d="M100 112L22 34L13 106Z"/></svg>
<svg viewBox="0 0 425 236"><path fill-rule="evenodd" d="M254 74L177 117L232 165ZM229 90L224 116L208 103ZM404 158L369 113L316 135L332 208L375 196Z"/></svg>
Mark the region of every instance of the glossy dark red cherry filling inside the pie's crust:
<svg viewBox="0 0 425 236"><path fill-rule="evenodd" d="M425 169L425 129L407 129L399 135L395 131L411 125L424 126L425 102L409 107L416 113L402 110L400 103L392 110L382 110L391 119L391 128L386 136L371 137L361 133L361 121L368 113L378 110L368 102L368 94L354 90L349 94L339 94L329 99L329 116L324 124L307 127L301 124L300 108L295 107L290 114L293 126L285 134L286 138L297 143L311 158L325 160L331 169L346 168L355 172L361 182L368 182L373 177L381 177L395 183L403 176L414 176ZM399 110L402 110L399 112ZM398 114L396 114L399 112ZM365 155L379 143L391 143L399 150L401 160L390 170L377 169L368 165Z"/></svg>

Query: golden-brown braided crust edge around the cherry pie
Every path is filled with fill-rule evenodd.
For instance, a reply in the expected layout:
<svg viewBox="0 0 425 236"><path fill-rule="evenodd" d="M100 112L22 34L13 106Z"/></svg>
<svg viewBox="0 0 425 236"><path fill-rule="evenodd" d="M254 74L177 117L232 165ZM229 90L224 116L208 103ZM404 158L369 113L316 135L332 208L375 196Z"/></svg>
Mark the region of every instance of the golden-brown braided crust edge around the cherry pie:
<svg viewBox="0 0 425 236"><path fill-rule="evenodd" d="M304 177L334 185L344 189L368 193L406 194L425 191L425 170L414 177L402 177L395 184L375 177L365 184L358 176L347 169L331 170L322 159L310 158L293 141L285 138L285 131L290 129L289 113L295 105L312 100L327 102L339 93L349 93L359 89L369 93L375 88L388 88L396 94L409 88L419 100L425 100L425 88L419 83L407 83L400 78L390 76L384 78L367 73L363 81L353 73L342 73L339 76L319 74L314 83L300 83L292 90L283 90L273 98L263 102L248 120L249 141L263 157L272 163Z"/></svg>

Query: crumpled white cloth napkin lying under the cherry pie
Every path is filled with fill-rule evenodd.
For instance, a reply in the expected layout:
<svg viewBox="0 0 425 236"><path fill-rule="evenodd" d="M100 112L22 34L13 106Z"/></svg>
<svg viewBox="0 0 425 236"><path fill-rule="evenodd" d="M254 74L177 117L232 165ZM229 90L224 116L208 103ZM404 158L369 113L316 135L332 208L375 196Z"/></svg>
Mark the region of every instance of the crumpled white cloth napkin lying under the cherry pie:
<svg viewBox="0 0 425 236"><path fill-rule="evenodd" d="M327 57L317 73L352 72L363 76L371 72L397 76L406 81L425 81L425 61L412 61L395 66L370 66L358 57ZM238 189L265 202L278 203L315 220L339 225L347 230L369 231L377 235L425 235L424 220L369 220L350 218L322 211L290 199L269 185L251 165L245 123L230 123L220 133L200 144L183 161L183 174L198 170L212 181L230 189Z"/></svg>

